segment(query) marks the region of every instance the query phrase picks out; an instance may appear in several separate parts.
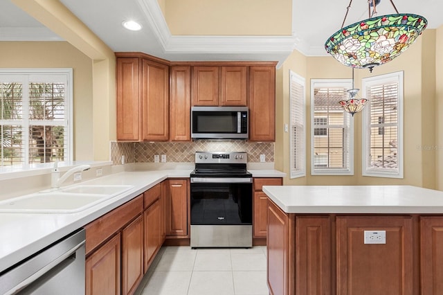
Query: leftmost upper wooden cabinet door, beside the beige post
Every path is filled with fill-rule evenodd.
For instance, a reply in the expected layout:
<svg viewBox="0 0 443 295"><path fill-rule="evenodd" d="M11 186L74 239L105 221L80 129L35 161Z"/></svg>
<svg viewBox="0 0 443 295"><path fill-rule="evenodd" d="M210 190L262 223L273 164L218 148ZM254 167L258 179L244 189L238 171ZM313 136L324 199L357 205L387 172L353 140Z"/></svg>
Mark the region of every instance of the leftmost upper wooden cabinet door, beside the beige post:
<svg viewBox="0 0 443 295"><path fill-rule="evenodd" d="M139 91L139 59L117 59L117 139L139 141L141 100Z"/></svg>

